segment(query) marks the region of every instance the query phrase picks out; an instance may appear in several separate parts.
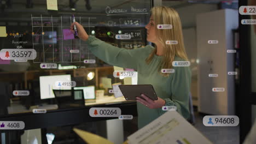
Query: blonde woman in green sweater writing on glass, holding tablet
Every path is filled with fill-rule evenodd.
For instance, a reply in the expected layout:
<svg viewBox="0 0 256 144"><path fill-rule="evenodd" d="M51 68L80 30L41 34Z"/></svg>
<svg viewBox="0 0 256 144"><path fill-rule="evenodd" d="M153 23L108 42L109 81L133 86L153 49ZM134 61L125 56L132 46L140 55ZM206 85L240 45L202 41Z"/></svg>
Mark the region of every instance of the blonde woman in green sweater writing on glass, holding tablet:
<svg viewBox="0 0 256 144"><path fill-rule="evenodd" d="M176 106L177 111L189 118L189 92L191 71L189 67L172 67L173 61L188 61L184 49L181 20L177 11L167 7L152 8L152 16L146 26L147 40L156 46L147 45L134 50L120 49L89 36L82 25L77 26L78 37L88 44L88 49L102 61L138 71L138 85L153 85L158 100L142 94L137 97L138 128L144 127L166 111L162 106ZM157 25L170 24L172 29L158 29ZM73 31L74 32L74 31ZM176 45L166 45L166 40L177 40ZM161 73L161 69L174 69L174 73Z"/></svg>

